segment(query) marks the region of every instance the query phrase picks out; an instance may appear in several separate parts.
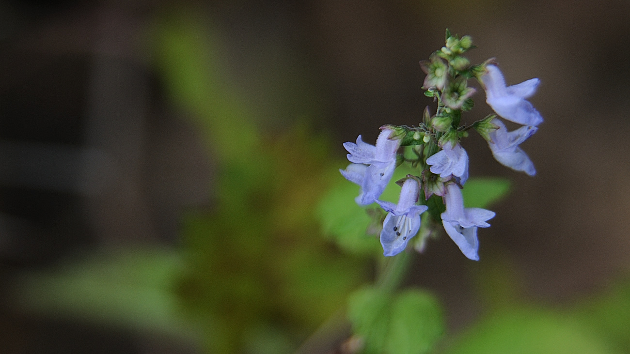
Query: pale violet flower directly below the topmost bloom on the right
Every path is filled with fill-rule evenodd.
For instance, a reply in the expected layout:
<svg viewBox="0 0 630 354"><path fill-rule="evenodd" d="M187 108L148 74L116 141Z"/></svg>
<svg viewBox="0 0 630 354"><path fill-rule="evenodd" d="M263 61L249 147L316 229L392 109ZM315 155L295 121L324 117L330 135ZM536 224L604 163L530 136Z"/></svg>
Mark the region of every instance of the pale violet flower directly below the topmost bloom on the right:
<svg viewBox="0 0 630 354"><path fill-rule="evenodd" d="M496 161L515 171L524 171L530 176L534 176L536 174L534 163L518 145L536 133L538 128L524 125L517 130L508 132L501 120L495 118L492 123L499 127L490 132L490 140L488 140L488 146L490 146L490 151L492 151Z"/></svg>

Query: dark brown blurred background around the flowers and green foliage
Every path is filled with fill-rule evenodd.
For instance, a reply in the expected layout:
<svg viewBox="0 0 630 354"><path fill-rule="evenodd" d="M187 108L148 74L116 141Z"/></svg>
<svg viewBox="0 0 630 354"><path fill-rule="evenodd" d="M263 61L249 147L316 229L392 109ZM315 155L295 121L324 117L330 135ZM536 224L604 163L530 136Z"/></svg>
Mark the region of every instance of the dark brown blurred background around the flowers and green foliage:
<svg viewBox="0 0 630 354"><path fill-rule="evenodd" d="M212 207L216 152L156 64L173 13L220 43L222 79L265 139L306 122L333 159L358 134L374 142L385 123L420 121L432 101L418 60L443 45L445 28L471 35L471 61L495 57L508 84L541 79L530 101L546 121L523 146L536 177L503 168L479 137L463 144L471 176L513 181L479 232L481 261L441 239L408 279L438 295L449 333L483 313L491 297L479 278L493 265L518 275L520 297L551 306L627 274L625 0L0 1L3 294L25 272L82 254L178 248L182 213ZM490 113L481 90L474 99L469 122ZM3 353L202 352L195 340L44 315L5 297Z"/></svg>

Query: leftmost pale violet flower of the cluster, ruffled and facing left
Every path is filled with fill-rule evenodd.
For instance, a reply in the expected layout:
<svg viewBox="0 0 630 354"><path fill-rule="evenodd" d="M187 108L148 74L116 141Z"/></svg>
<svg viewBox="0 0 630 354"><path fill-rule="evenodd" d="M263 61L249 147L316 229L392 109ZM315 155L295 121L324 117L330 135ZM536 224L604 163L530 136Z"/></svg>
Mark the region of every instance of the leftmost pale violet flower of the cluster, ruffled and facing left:
<svg viewBox="0 0 630 354"><path fill-rule="evenodd" d="M369 205L381 197L394 174L400 140L387 139L391 134L391 129L384 128L376 140L376 146L363 142L361 135L356 144L343 143L343 147L350 152L348 160L352 164L339 171L348 181L361 186L359 195L355 198L359 205Z"/></svg>

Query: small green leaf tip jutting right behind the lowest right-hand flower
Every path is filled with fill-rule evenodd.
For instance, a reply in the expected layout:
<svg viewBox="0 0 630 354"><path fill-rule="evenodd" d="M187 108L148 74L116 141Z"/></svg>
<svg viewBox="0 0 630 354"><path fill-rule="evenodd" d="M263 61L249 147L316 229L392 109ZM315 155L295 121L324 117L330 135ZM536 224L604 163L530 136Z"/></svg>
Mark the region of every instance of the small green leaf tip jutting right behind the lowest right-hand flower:
<svg viewBox="0 0 630 354"><path fill-rule="evenodd" d="M464 206L487 208L510 191L510 181L503 178L471 178L464 185Z"/></svg>

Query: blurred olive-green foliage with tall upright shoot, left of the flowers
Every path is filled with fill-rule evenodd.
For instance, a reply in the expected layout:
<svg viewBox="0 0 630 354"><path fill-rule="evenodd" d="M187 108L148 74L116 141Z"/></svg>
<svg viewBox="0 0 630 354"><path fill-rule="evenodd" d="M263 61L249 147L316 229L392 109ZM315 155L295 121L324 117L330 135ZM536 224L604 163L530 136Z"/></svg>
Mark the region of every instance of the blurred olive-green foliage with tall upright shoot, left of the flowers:
<svg viewBox="0 0 630 354"><path fill-rule="evenodd" d="M228 94L212 31L191 18L164 21L159 66L219 161L214 205L185 218L179 294L211 352L238 353L275 333L265 346L281 353L344 304L367 278L366 263L319 231L314 208L336 172L326 141L303 126L264 138L246 103Z"/></svg>

